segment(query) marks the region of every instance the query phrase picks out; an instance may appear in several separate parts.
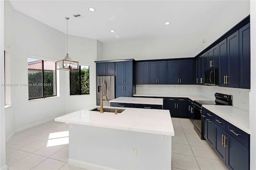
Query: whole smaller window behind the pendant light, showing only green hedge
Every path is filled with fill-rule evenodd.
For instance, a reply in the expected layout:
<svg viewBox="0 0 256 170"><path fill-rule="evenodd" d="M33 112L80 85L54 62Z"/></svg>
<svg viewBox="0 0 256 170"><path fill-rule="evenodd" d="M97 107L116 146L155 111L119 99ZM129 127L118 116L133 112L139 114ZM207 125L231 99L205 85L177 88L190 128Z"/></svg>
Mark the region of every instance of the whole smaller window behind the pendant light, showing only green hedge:
<svg viewBox="0 0 256 170"><path fill-rule="evenodd" d="M89 66L80 65L78 70L72 70L70 77L70 95L89 94Z"/></svg>

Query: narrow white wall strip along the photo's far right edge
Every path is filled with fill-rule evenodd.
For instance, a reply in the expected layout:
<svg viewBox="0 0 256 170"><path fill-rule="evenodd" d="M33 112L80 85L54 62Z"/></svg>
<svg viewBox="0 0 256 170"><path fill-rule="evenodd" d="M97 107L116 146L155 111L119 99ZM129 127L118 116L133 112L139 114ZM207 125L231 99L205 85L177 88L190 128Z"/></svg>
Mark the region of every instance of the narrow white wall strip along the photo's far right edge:
<svg viewBox="0 0 256 170"><path fill-rule="evenodd" d="M256 170L256 1L250 1L251 92L250 92L250 169Z"/></svg>

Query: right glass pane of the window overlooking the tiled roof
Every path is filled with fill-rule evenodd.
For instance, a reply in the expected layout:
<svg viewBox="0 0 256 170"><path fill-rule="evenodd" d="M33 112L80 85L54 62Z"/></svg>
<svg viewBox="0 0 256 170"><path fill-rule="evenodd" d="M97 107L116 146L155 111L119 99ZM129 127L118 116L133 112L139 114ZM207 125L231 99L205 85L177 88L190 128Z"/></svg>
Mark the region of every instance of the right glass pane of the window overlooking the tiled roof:
<svg viewBox="0 0 256 170"><path fill-rule="evenodd" d="M44 60L44 97L56 95L55 62Z"/></svg>

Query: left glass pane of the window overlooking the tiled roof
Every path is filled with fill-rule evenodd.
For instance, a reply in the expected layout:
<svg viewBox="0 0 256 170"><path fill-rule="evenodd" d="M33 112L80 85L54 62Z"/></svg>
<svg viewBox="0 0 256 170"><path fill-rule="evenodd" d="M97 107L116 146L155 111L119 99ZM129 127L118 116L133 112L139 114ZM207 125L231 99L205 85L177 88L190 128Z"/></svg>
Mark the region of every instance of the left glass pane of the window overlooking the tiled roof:
<svg viewBox="0 0 256 170"><path fill-rule="evenodd" d="M42 97L42 60L28 58L28 98Z"/></svg>

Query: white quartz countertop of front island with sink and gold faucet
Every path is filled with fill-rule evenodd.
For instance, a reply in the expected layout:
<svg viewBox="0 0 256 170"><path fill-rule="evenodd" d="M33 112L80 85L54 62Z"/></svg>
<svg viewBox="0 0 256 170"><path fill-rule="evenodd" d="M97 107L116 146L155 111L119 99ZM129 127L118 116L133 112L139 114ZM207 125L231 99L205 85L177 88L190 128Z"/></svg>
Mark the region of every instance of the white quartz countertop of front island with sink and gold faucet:
<svg viewBox="0 0 256 170"><path fill-rule="evenodd" d="M87 107L80 111L58 117L55 121L174 136L172 119L168 110L126 107L122 108L125 111L115 115L109 112L100 113L98 111L90 111L94 108L97 108L97 106ZM120 109L120 107L104 108Z"/></svg>

